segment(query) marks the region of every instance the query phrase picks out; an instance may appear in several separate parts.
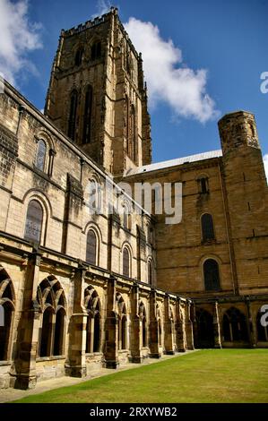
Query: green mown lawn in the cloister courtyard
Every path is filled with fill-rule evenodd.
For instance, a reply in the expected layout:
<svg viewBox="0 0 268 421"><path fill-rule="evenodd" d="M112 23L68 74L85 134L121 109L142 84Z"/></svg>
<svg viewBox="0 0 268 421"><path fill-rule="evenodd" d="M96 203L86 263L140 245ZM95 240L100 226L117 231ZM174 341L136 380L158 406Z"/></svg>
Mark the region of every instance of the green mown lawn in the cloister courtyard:
<svg viewBox="0 0 268 421"><path fill-rule="evenodd" d="M268 349L209 349L17 402L268 403Z"/></svg>

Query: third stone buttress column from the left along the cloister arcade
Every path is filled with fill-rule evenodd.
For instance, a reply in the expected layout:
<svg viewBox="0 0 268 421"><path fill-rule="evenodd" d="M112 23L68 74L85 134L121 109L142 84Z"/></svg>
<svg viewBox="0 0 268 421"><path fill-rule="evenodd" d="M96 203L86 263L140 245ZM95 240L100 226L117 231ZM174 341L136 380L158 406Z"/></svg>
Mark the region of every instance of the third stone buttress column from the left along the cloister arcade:
<svg viewBox="0 0 268 421"><path fill-rule="evenodd" d="M116 312L117 279L108 279L107 316L105 321L104 357L106 368L117 368L118 360L118 315Z"/></svg>

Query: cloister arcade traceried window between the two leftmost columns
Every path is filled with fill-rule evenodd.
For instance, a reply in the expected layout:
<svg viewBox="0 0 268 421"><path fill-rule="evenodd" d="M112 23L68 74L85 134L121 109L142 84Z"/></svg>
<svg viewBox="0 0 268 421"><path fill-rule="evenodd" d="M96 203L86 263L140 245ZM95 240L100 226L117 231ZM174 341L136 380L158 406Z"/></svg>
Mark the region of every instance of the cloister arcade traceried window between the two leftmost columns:
<svg viewBox="0 0 268 421"><path fill-rule="evenodd" d="M65 293L54 276L42 280L38 287L42 311L39 329L39 357L65 355Z"/></svg>

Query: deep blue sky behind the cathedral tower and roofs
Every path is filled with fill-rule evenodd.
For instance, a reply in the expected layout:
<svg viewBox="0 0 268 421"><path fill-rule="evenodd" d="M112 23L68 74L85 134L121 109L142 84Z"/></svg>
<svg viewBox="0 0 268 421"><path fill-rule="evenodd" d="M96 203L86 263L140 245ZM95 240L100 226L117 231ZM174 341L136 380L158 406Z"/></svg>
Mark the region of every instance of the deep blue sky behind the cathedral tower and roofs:
<svg viewBox="0 0 268 421"><path fill-rule="evenodd" d="M0 12L8 3L11 0L0 0ZM18 2L12 3L16 5ZM23 37L26 40L24 45L21 41L13 52L14 68L10 78L23 95L41 109L60 30L91 19L93 14L103 11L105 2L29 0L27 7L21 0L23 4L24 9L18 17L24 20L21 22L22 35L19 34L13 42L18 44L18 39ZM201 97L197 99L196 107L203 107L206 99L212 101L212 109L206 116L199 108L196 111L196 107L194 111L186 110L185 104L171 98L173 86L170 83L167 89L169 98L161 97L165 81L160 81L160 90L151 101L153 161L220 149L217 120L238 109L255 114L262 150L268 154L268 93L260 90L260 75L268 72L268 0L115 0L113 5L118 7L123 22L129 22L130 18L135 18L142 25L151 22L150 28L154 33L157 26L159 45L162 43L162 47L170 47L171 58L168 60L172 62L177 55L177 63L175 59L174 63L169 63L174 79L177 68L188 69L191 83L202 81L198 88L188 81L186 94L189 92L191 96L193 87L199 90ZM15 25L16 21L12 24ZM27 30L33 39L27 38ZM3 37L0 38L4 46L8 45ZM16 53L19 56L17 61ZM5 65L8 59L9 56L5 57ZM0 72L6 73L5 68L1 69L3 63L0 51ZM202 73L198 73L201 69ZM198 74L202 76L199 79ZM176 85L177 81L174 82ZM181 85L176 86L178 98Z"/></svg>

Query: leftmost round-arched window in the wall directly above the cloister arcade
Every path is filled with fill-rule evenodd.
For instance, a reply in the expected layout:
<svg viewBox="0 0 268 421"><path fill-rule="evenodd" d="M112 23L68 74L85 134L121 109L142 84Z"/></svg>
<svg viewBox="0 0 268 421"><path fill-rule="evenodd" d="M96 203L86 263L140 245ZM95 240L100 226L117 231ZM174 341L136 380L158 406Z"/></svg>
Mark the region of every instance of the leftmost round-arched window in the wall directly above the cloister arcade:
<svg viewBox="0 0 268 421"><path fill-rule="evenodd" d="M40 243L43 225L43 209L40 203L36 200L29 202L26 224L24 231L24 238L27 241Z"/></svg>

